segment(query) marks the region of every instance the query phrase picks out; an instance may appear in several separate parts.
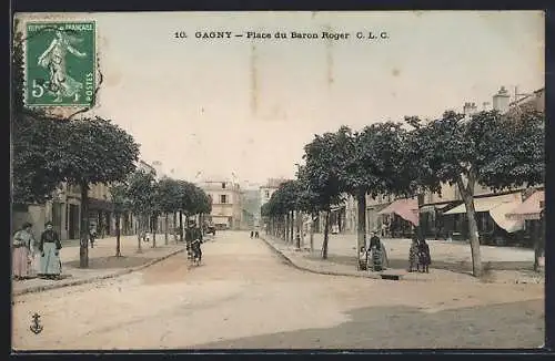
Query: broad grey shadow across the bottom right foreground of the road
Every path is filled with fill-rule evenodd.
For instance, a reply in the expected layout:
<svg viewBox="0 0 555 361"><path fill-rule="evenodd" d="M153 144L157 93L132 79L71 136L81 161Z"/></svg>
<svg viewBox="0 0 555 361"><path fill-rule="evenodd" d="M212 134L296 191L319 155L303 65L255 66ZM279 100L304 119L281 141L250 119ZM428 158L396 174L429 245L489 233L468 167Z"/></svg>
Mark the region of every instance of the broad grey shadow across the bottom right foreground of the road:
<svg viewBox="0 0 555 361"><path fill-rule="evenodd" d="M239 338L192 349L506 349L544 343L543 300L435 313L412 307L372 307L349 314L351 321L334 328Z"/></svg>

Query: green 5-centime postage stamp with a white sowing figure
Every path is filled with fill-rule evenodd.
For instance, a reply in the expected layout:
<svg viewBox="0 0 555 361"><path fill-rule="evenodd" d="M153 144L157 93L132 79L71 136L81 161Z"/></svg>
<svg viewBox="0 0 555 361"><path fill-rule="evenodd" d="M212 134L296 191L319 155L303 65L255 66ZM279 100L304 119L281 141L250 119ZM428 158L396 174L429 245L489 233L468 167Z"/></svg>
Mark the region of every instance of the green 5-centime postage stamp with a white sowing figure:
<svg viewBox="0 0 555 361"><path fill-rule="evenodd" d="M29 22L26 30L27 106L92 106L94 21Z"/></svg>

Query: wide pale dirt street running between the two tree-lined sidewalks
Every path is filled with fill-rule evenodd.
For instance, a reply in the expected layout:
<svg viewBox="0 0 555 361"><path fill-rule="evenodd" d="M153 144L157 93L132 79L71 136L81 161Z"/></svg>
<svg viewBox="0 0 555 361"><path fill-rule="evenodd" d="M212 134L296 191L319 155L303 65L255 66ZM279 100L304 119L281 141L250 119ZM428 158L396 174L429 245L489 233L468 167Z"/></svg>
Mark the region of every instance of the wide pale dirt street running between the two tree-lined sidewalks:
<svg viewBox="0 0 555 361"><path fill-rule="evenodd" d="M13 298L14 350L536 348L544 286L384 281L296 270L261 239L221 231L95 283ZM41 316L43 331L29 330Z"/></svg>

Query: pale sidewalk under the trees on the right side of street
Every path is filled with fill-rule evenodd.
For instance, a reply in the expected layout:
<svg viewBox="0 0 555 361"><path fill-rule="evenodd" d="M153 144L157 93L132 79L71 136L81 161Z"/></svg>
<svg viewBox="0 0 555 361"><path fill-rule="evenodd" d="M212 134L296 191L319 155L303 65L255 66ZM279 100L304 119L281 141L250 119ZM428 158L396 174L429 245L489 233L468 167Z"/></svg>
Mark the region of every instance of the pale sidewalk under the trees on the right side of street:
<svg viewBox="0 0 555 361"><path fill-rule="evenodd" d="M316 236L316 235L315 235ZM346 245L337 245L336 239L330 240L329 257L327 260L321 258L321 243L317 241L316 237L314 239L314 252L311 254L309 249L302 248L296 249L293 245L286 245L282 239L272 237L270 235L261 235L261 238L275 251L281 254L287 259L295 268L322 274L322 275L334 275L334 276L350 276L350 277L363 277L372 279L381 279L381 272L372 271L360 271L356 269L356 247L347 247ZM307 239L305 240L307 243ZM335 243L334 243L335 241ZM384 240L387 248L387 256L390 259L390 268L383 271L383 274L394 274L401 275L403 280L412 281L447 281L447 282L503 282L503 283L541 283L544 282L543 275L536 275L523 270L492 270L487 272L487 276L481 279L473 277L470 272L456 267L457 264L446 262L445 260L434 259L430 269L430 274L420 272L407 272L406 267L408 260L404 258L398 258L398 254L402 251L396 241L402 240ZM332 243L334 243L332 245ZM355 243L353 245L356 245ZM407 244L408 245L408 244ZM350 245L351 246L351 243ZM306 247L306 245L304 246ZM468 247L468 246L467 246ZM339 248L339 249L337 249ZM468 247L470 248L470 247ZM351 251L349 252L349 250ZM337 251L340 250L340 251ZM347 252L350 255L347 255ZM438 255L444 258L444 255ZM407 258L407 257L406 257ZM434 268L434 264L440 264L442 268ZM485 262L484 262L485 264ZM455 266L453 270L450 270L447 266ZM444 267L444 268L443 268ZM464 268L464 267L463 267Z"/></svg>

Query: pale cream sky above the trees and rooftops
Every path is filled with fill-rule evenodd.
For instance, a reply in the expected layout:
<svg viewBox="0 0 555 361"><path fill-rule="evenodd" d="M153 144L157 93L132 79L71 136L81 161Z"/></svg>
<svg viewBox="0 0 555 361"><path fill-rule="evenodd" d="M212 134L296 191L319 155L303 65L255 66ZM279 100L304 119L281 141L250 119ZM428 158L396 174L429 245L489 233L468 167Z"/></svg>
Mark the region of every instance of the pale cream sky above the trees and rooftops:
<svg viewBox="0 0 555 361"><path fill-rule="evenodd" d="M56 20L51 16L48 20ZM533 11L88 13L104 82L93 114L173 176L293 177L315 133L434 117L544 86L544 17ZM37 17L33 17L37 19ZM349 32L349 40L199 40L196 31ZM188 39L175 39L184 31ZM386 40L356 32L386 31Z"/></svg>

